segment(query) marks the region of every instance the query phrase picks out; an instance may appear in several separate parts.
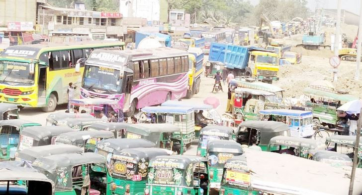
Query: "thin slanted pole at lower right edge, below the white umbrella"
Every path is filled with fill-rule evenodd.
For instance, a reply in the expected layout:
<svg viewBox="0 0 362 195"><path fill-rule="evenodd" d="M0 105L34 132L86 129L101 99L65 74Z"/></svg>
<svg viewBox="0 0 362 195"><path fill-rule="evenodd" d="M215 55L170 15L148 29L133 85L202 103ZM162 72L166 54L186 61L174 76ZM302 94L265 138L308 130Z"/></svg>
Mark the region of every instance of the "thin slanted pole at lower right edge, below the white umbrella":
<svg viewBox="0 0 362 195"><path fill-rule="evenodd" d="M360 24L361 24L361 22L360 22ZM361 61L361 60L358 60L358 61ZM350 190L348 191L348 195L353 194L353 184L355 182L355 174L356 174L356 167L357 167L357 161L358 161L357 160L358 150L360 148L361 128L362 128L362 108L360 111L360 117L358 118L358 121L357 121L356 144L355 144L355 149L353 151L353 167L352 167L352 173L351 173Z"/></svg>

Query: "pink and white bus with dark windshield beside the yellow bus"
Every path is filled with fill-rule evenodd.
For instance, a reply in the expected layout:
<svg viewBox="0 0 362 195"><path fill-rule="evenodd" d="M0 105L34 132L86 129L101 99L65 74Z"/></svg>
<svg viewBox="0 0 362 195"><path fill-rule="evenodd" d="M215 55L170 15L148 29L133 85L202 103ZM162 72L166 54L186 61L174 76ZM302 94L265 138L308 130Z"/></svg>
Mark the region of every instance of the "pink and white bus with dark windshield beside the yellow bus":
<svg viewBox="0 0 362 195"><path fill-rule="evenodd" d="M186 96L188 52L174 48L97 49L86 61L81 98L116 99L127 116L135 109Z"/></svg>

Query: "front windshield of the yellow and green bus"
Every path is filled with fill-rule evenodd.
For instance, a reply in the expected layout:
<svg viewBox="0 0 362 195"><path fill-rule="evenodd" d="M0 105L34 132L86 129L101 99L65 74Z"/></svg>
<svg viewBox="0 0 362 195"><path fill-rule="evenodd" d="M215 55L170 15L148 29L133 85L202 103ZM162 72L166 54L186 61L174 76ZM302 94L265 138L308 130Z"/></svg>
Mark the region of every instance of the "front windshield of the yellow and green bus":
<svg viewBox="0 0 362 195"><path fill-rule="evenodd" d="M29 70L29 63L0 61L0 82L34 84L34 74Z"/></svg>

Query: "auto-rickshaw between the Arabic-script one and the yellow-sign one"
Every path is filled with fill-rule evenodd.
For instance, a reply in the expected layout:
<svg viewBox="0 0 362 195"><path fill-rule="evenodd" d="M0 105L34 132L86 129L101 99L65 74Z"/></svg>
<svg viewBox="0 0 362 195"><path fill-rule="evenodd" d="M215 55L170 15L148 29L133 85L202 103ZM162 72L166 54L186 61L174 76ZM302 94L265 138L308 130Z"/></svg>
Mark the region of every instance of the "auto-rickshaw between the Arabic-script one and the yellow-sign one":
<svg viewBox="0 0 362 195"><path fill-rule="evenodd" d="M241 145L231 140L211 140L207 143L206 157L209 160L209 189L220 190L222 171L226 161L243 154Z"/></svg>

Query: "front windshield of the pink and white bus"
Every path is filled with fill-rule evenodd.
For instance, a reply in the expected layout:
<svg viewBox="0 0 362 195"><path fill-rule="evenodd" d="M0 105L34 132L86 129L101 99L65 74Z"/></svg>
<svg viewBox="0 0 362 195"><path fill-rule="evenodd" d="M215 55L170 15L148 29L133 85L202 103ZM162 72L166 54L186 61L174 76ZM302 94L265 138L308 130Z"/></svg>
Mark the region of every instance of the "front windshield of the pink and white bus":
<svg viewBox="0 0 362 195"><path fill-rule="evenodd" d="M113 68L86 65L82 84L89 88L120 92L122 79L119 72Z"/></svg>

